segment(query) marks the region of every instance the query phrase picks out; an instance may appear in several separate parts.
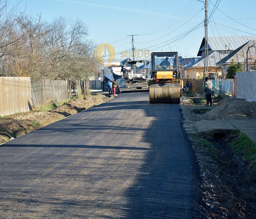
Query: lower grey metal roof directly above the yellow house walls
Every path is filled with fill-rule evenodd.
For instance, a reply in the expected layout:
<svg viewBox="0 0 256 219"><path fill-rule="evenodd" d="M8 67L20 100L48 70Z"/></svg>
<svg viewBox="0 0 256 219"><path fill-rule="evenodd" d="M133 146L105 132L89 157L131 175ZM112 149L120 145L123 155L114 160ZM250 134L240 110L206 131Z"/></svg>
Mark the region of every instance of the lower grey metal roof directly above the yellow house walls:
<svg viewBox="0 0 256 219"><path fill-rule="evenodd" d="M208 54L208 67L216 67L216 63L219 62L223 57L225 57L225 54L222 54L222 52L219 51L211 51ZM188 68L201 68L204 67L204 57L199 58L196 63L192 63L188 66L185 66L185 69Z"/></svg>

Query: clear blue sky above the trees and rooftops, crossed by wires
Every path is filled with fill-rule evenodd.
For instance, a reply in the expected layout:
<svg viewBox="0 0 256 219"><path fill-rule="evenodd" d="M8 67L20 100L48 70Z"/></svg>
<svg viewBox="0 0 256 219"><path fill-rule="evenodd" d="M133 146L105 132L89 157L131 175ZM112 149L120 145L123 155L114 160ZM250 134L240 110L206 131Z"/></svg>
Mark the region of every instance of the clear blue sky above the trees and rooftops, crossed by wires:
<svg viewBox="0 0 256 219"><path fill-rule="evenodd" d="M58 16L82 19L90 38L110 43L116 58L132 47L131 34L139 34L134 36L136 49L178 51L183 57L195 57L204 37L204 3L197 0L21 0L24 8L47 21ZM208 36L256 35L255 8L255 0L208 0L208 16L214 12Z"/></svg>

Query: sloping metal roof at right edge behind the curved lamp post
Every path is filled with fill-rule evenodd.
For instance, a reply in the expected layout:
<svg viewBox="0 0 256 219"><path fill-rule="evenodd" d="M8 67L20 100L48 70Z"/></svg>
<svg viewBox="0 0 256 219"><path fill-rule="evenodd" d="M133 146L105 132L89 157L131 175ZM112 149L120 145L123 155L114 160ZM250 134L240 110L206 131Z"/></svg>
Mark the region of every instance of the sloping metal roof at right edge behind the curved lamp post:
<svg viewBox="0 0 256 219"><path fill-rule="evenodd" d="M248 50L248 47L251 47ZM234 63L245 63L246 62L246 53L248 50L248 64L253 63L256 60L256 40L251 40L249 42L246 42L244 45L238 47L236 50L234 50L232 53L227 55L227 57L221 59L219 62L216 63L216 65L223 65L227 63L231 63L232 59L234 59Z"/></svg>

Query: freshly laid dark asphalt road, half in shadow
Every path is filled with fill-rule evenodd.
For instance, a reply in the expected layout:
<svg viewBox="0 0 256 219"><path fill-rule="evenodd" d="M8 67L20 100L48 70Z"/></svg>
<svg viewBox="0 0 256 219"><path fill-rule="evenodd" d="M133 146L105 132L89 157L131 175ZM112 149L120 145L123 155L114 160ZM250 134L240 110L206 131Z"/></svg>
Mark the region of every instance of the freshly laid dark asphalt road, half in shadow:
<svg viewBox="0 0 256 219"><path fill-rule="evenodd" d="M0 147L0 218L200 218L179 104L113 100Z"/></svg>

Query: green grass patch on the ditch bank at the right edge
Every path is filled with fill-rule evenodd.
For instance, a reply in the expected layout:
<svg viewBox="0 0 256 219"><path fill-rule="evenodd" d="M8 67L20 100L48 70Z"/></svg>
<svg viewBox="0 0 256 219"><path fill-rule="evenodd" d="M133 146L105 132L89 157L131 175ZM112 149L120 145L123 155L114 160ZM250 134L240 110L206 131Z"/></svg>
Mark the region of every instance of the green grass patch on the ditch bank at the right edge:
<svg viewBox="0 0 256 219"><path fill-rule="evenodd" d="M240 157L244 157L256 170L256 145L246 134L240 132L238 138L232 142L231 149Z"/></svg>

